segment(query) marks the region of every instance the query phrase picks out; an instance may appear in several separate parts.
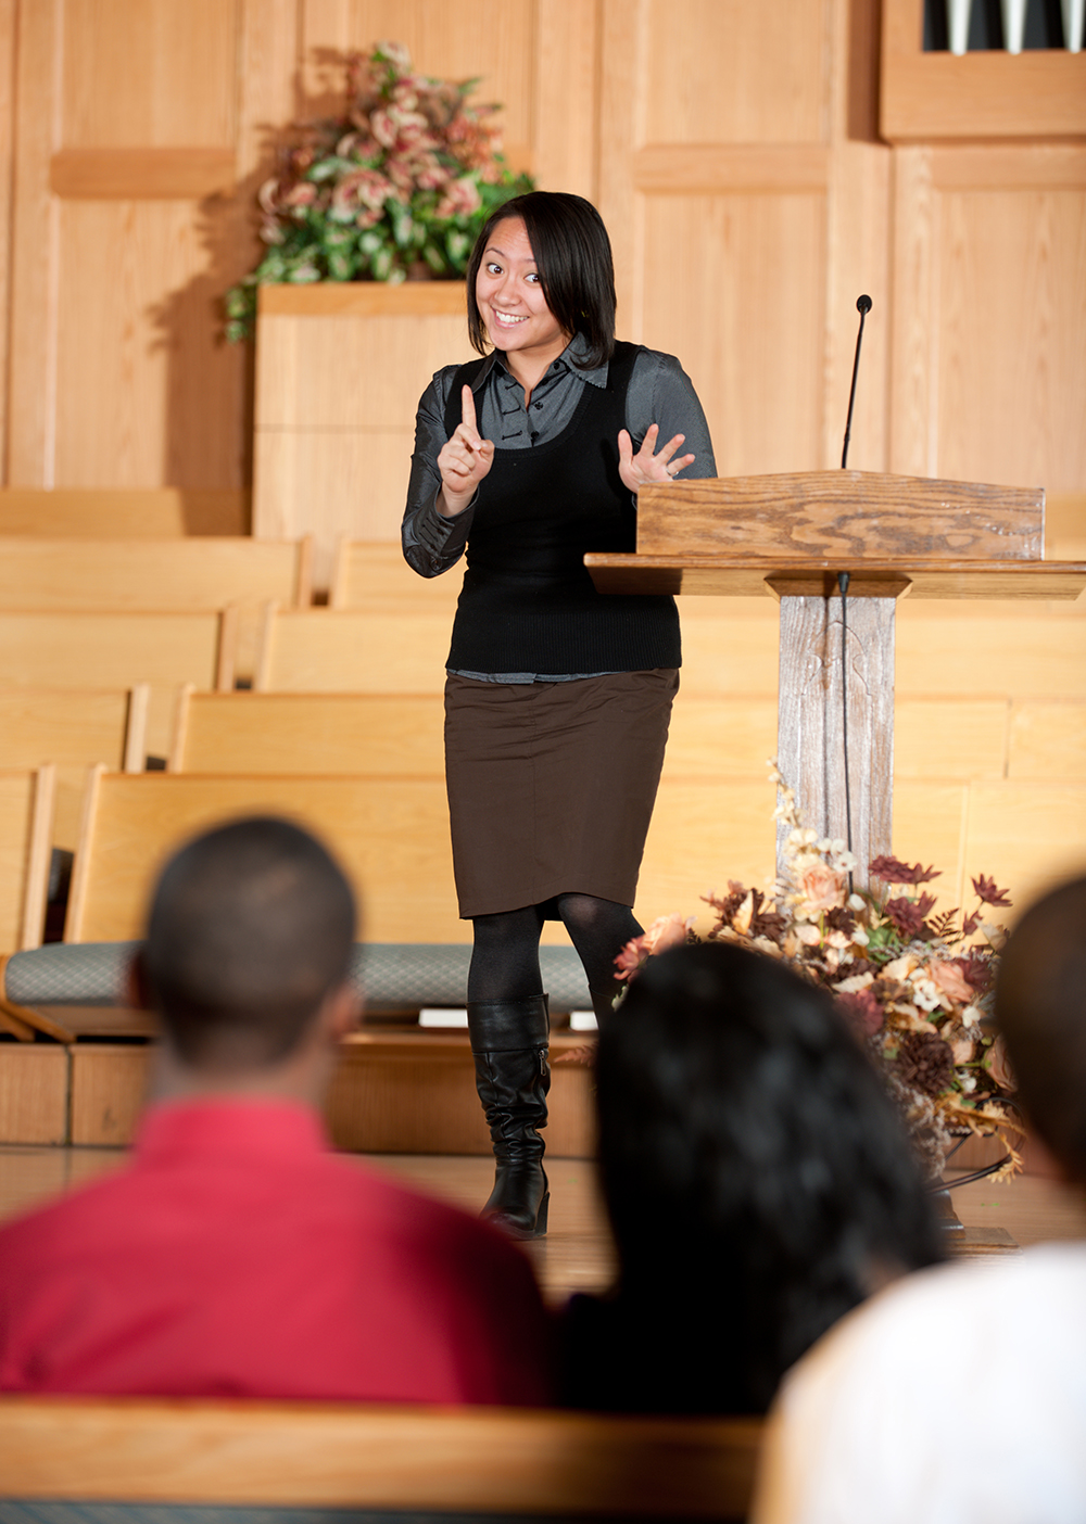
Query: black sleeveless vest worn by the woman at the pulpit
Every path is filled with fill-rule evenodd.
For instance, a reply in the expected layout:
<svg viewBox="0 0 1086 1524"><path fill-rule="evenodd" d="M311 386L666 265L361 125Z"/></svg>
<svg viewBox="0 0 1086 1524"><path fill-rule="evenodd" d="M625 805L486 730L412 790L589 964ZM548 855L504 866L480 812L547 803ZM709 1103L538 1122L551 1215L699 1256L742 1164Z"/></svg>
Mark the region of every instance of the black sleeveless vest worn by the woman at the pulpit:
<svg viewBox="0 0 1086 1524"><path fill-rule="evenodd" d="M636 511L618 474L618 433L636 344L618 343L607 386L586 386L569 425L529 450L496 450L479 488L447 666L453 672L641 672L677 668L673 597L596 593L589 550L636 549ZM453 376L451 434L461 387L485 360ZM638 442L635 440L635 451Z"/></svg>

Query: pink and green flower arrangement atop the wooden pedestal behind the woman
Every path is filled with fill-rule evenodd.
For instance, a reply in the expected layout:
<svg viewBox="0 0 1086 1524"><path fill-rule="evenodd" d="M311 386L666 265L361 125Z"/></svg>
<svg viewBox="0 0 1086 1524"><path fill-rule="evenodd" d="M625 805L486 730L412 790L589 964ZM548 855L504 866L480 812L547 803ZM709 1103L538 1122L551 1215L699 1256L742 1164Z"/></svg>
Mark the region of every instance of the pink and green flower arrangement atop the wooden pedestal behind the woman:
<svg viewBox="0 0 1086 1524"><path fill-rule="evenodd" d="M351 55L345 114L299 126L261 186L268 247L226 296L227 338L252 334L259 285L464 276L494 207L534 187L476 84L415 73L401 43Z"/></svg>

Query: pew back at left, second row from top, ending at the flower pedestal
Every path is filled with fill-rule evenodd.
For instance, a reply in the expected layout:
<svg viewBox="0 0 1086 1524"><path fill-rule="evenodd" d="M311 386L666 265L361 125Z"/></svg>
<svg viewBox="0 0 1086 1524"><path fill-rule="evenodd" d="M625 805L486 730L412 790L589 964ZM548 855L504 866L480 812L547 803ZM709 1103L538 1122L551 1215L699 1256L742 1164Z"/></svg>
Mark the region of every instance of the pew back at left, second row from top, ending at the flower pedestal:
<svg viewBox="0 0 1086 1524"><path fill-rule="evenodd" d="M0 546L0 608L195 610L311 602L313 539L29 539Z"/></svg>

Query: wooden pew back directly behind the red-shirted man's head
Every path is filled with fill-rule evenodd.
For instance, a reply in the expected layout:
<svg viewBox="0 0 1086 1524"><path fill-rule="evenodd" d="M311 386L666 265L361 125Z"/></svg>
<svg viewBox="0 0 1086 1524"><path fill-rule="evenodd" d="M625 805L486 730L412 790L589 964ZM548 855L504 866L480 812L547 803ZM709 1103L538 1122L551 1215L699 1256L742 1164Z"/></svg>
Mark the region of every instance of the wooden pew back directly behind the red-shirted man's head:
<svg viewBox="0 0 1086 1524"><path fill-rule="evenodd" d="M369 942L464 942L441 777L221 777L92 770L66 942L142 936L163 860L238 815L299 820L339 855Z"/></svg>

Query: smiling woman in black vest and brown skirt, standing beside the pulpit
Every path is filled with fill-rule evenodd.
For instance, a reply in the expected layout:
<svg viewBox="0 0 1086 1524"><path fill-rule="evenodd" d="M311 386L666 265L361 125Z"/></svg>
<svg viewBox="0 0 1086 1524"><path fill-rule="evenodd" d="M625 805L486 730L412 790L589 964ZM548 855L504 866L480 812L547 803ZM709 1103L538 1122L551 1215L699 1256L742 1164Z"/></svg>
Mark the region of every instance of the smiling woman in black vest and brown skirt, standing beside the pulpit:
<svg viewBox="0 0 1086 1524"><path fill-rule="evenodd" d="M584 555L635 549L647 483L715 468L679 361L615 340L610 241L590 203L506 201L479 235L467 291L484 358L447 366L423 395L403 547L438 576L467 546L445 777L497 1160L484 1216L535 1237L549 1201L540 933L564 924L602 1020L613 959L641 933L631 907L679 686L674 599L599 594Z"/></svg>

